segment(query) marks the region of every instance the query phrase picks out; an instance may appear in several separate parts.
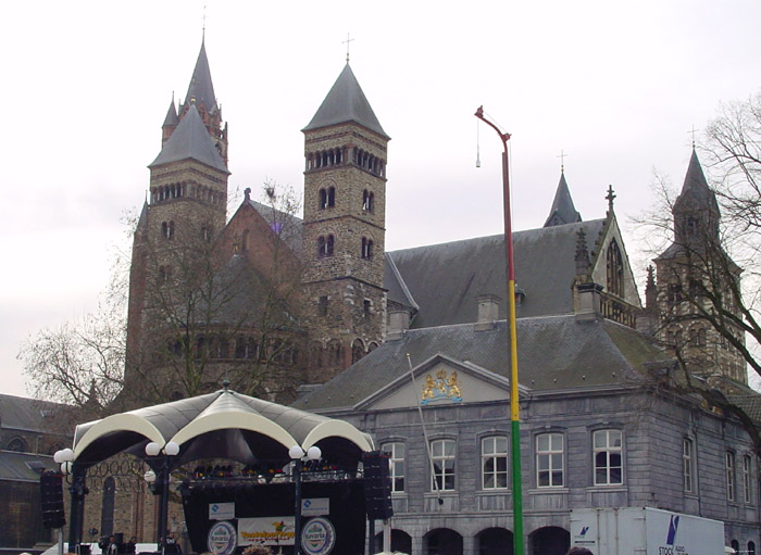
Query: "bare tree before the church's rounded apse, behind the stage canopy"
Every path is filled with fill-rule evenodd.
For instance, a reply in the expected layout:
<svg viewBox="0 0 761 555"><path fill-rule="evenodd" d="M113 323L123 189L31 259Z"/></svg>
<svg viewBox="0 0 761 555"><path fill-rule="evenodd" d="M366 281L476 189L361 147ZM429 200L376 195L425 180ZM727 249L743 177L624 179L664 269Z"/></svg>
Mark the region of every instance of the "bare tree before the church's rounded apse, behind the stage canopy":
<svg viewBox="0 0 761 555"><path fill-rule="evenodd" d="M292 249L300 220L290 189L265 184L265 191L269 205L253 203L247 190L244 213L214 239L147 241L139 352L127 367L124 396L144 403L194 396L226 379L242 393L292 399L303 336ZM204 228L185 224L175 222Z"/></svg>

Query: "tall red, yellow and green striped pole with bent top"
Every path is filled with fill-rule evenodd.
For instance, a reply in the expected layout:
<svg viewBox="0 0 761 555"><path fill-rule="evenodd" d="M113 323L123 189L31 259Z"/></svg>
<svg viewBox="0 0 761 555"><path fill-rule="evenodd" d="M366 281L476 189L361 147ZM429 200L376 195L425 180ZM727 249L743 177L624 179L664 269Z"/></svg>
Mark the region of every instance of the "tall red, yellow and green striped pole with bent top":
<svg viewBox="0 0 761 555"><path fill-rule="evenodd" d="M484 106L474 114L491 127L502 141L502 209L504 212L504 242L508 263L508 306L510 307L510 440L513 478L513 553L523 555L523 484L521 477L521 418L517 402L517 333L515 329L515 264L513 263L512 216L510 211L510 172L508 165L509 133L502 133L484 116Z"/></svg>

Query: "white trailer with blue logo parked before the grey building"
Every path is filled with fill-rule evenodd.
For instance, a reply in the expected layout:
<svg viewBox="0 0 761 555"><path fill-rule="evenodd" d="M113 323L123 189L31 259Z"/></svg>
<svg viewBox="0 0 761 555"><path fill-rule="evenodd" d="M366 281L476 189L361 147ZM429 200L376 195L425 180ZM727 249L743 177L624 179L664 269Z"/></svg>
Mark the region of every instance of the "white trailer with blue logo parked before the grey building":
<svg viewBox="0 0 761 555"><path fill-rule="evenodd" d="M650 507L578 509L571 545L595 555L724 555L724 522Z"/></svg>

